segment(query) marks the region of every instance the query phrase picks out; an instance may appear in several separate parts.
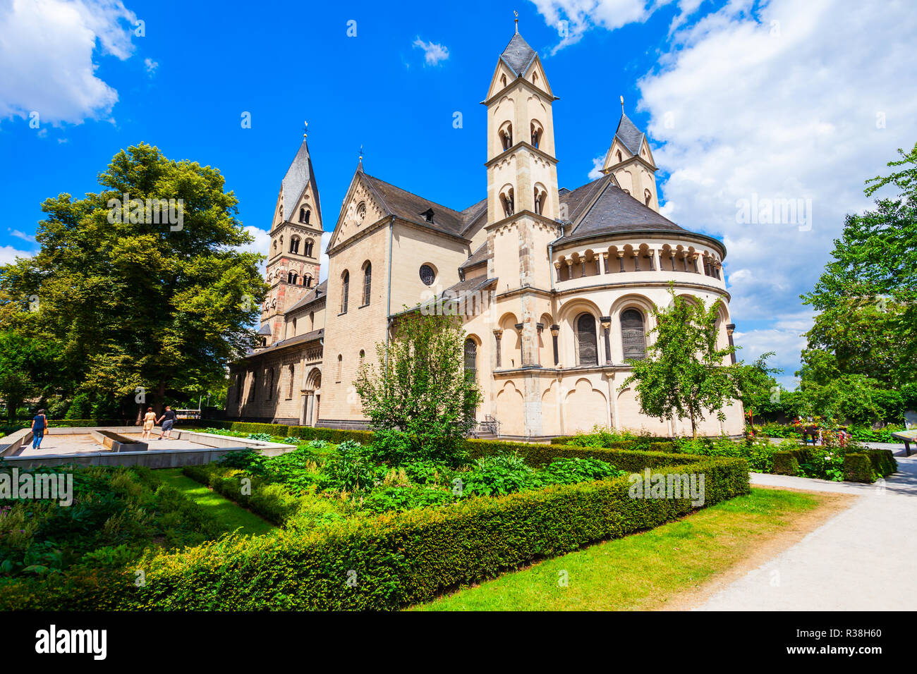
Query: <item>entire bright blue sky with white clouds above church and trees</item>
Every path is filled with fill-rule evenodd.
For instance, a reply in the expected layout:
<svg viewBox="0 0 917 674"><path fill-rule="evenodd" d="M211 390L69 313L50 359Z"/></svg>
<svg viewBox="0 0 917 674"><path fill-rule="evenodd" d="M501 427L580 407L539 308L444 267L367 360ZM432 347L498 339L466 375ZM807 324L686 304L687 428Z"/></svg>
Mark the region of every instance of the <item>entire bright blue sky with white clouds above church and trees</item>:
<svg viewBox="0 0 917 674"><path fill-rule="evenodd" d="M515 9L560 97L560 185L590 179L624 95L663 212L729 248L740 357L777 350L791 386L811 325L799 293L867 207L862 182L917 141L911 8L860 5L0 0L0 262L36 249L44 199L95 191L140 141L222 171L263 245L304 120L326 229L361 145L366 171L464 208L486 190L479 104ZM761 199L812 217L743 222L737 206Z"/></svg>

